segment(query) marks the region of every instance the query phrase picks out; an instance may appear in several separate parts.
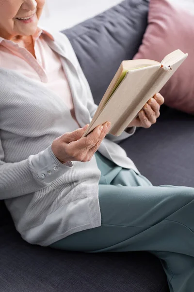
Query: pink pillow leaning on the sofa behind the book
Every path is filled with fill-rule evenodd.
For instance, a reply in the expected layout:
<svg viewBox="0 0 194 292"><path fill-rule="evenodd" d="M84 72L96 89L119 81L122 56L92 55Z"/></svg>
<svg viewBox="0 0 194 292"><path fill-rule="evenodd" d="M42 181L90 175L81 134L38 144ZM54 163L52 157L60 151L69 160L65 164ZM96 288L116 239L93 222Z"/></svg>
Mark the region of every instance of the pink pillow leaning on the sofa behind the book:
<svg viewBox="0 0 194 292"><path fill-rule="evenodd" d="M172 6L168 0L150 0L148 26L134 59L161 62L177 49L189 56L161 94L167 106L194 114L194 15Z"/></svg>

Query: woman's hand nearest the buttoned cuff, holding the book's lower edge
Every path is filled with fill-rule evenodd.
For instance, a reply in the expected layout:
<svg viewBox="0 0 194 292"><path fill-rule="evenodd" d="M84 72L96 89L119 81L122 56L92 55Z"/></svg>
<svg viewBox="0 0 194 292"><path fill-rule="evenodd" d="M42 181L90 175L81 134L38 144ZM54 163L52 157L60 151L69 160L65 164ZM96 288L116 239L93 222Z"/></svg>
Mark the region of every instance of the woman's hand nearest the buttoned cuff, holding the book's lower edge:
<svg viewBox="0 0 194 292"><path fill-rule="evenodd" d="M51 148L57 159L65 164L67 161L90 161L102 140L111 129L111 123L97 126L87 137L81 138L88 125L73 132L67 132L53 140ZM102 127L102 128L101 128Z"/></svg>

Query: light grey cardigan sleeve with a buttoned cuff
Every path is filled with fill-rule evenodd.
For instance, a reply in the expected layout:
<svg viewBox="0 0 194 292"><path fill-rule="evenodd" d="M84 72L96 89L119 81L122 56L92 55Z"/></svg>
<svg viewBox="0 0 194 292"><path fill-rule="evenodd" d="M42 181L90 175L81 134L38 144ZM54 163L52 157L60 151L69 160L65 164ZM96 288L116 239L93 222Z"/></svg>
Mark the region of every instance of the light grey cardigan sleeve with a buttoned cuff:
<svg viewBox="0 0 194 292"><path fill-rule="evenodd" d="M6 163L3 159L4 151L0 142L0 200L38 191L73 167L71 162L60 163L51 145L20 162Z"/></svg>

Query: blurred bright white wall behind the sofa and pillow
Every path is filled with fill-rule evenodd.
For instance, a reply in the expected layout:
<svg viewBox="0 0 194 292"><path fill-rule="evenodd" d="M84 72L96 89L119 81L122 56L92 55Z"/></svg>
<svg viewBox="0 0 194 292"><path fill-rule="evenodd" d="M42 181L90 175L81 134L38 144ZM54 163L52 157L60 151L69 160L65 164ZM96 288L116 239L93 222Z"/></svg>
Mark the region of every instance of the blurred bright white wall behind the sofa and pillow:
<svg viewBox="0 0 194 292"><path fill-rule="evenodd" d="M194 13L194 0L169 1ZM60 31L94 17L119 2L122 0L46 0L39 23L50 30Z"/></svg>

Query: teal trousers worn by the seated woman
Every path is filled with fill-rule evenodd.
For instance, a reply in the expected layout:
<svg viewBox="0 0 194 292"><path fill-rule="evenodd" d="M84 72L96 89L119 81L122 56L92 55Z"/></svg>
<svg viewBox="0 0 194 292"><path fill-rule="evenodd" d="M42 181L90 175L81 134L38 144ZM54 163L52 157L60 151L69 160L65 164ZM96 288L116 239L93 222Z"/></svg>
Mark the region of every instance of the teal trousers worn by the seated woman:
<svg viewBox="0 0 194 292"><path fill-rule="evenodd" d="M153 186L96 153L101 226L50 247L66 251L148 251L160 258L170 292L194 292L194 188Z"/></svg>

